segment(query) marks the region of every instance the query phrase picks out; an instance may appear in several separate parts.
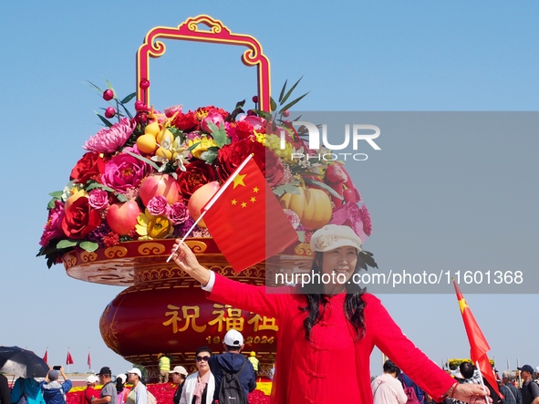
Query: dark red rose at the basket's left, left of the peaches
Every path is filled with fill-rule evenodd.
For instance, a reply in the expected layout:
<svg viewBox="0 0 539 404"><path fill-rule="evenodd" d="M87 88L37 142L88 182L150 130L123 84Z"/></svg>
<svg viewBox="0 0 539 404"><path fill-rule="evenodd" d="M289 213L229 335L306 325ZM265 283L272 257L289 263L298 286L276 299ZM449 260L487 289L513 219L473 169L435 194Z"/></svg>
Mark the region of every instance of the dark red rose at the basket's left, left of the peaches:
<svg viewBox="0 0 539 404"><path fill-rule="evenodd" d="M87 197L81 196L67 208L62 220L62 230L67 237L80 240L96 229L99 224L101 224L101 215L89 205Z"/></svg>

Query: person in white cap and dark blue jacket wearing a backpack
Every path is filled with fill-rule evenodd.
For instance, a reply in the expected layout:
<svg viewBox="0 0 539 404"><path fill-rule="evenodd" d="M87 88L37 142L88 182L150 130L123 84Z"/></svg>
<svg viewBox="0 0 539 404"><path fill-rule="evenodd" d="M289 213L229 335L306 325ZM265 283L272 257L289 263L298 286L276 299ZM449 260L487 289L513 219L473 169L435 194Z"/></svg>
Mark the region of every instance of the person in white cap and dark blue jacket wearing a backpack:
<svg viewBox="0 0 539 404"><path fill-rule="evenodd" d="M212 374L215 377L213 399L219 399L223 370L226 373L235 374L242 366L244 368L238 375L238 379L244 388L245 399L247 399L249 393L256 388L256 377L254 376L253 365L241 354L242 349L244 349L244 336L238 330L231 329L224 336L223 346L226 352L221 355L213 355L209 361Z"/></svg>

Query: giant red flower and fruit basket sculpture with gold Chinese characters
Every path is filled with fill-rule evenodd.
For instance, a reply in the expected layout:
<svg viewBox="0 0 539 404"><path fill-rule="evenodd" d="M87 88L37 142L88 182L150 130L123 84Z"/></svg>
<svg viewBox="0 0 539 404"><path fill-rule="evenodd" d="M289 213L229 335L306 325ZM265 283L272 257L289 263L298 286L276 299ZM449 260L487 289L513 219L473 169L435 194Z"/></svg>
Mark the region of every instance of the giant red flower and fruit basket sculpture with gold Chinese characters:
<svg viewBox="0 0 539 404"><path fill-rule="evenodd" d="M243 61L258 67L253 109L244 102L232 111L208 106L162 112L150 106L149 58L165 52L159 38L244 46ZM194 351L207 345L221 351L224 333L244 333L246 351L261 359L268 375L275 360L275 318L206 300L202 289L173 262L176 237L193 228L186 243L202 264L241 282L264 285L266 273L310 269L310 235L326 223L347 223L365 240L368 211L344 167L311 162L308 147L286 120L290 100L283 87L270 97L269 62L252 37L232 34L210 16L190 18L178 27L150 30L137 57L137 92L119 98L109 83L110 106L99 118L105 128L91 137L67 186L53 192L39 255L63 263L67 275L106 285L128 286L109 303L100 320L106 344L157 377L157 357L192 367ZM135 98L134 113L127 104ZM109 119L118 119L113 123ZM306 157L294 159L301 151ZM272 259L236 274L204 223L193 223L219 185L252 154L280 200L299 241ZM271 278L269 276L268 278ZM190 368L190 370L193 370Z"/></svg>

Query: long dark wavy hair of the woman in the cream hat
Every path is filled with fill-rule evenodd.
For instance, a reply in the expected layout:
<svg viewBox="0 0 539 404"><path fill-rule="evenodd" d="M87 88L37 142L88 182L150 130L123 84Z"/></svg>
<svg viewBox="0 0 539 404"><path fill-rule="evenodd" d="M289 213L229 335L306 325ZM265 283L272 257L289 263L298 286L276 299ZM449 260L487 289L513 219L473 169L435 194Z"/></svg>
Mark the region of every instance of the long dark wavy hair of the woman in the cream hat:
<svg viewBox="0 0 539 404"><path fill-rule="evenodd" d="M322 271L319 263L322 261L322 254L324 253L315 252L311 267L312 274L321 274ZM358 262L356 263L354 274L358 274L361 269L367 270L367 266L378 268L378 265L372 258L372 254L367 251L360 251L358 253ZM356 330L357 339L360 339L365 335L365 317L363 316L365 302L361 296L367 289L362 288L355 282L347 283L345 289L347 291L344 304L345 316L347 316L347 320ZM316 326L322 316L324 316L327 305L327 295L324 295L324 285L322 285L322 283L305 285L302 287L302 292L306 294L307 306L300 306L299 309L308 312L308 315L303 322L303 326L305 328L306 340L310 341L313 326ZM321 312L320 306L322 306Z"/></svg>

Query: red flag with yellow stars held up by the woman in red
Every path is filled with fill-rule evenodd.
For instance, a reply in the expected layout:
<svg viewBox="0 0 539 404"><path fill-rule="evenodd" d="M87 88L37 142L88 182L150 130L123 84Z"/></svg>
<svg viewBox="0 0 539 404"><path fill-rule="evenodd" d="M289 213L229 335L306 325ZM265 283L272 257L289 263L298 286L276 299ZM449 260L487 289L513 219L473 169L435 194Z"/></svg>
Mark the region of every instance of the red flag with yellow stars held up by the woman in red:
<svg viewBox="0 0 539 404"><path fill-rule="evenodd" d="M292 224L252 155L204 205L204 223L234 272L283 251L297 240Z"/></svg>

